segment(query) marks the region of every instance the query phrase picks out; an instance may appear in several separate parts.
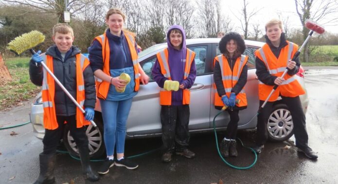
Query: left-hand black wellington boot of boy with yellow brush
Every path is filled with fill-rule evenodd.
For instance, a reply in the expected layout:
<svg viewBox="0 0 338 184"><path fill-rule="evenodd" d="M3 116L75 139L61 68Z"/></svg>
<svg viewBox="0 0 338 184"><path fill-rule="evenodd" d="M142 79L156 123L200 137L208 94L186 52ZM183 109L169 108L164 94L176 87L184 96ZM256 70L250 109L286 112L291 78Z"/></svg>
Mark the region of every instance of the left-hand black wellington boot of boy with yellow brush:
<svg viewBox="0 0 338 184"><path fill-rule="evenodd" d="M40 160L40 175L34 184L53 184L55 183L54 168L55 154L39 154Z"/></svg>

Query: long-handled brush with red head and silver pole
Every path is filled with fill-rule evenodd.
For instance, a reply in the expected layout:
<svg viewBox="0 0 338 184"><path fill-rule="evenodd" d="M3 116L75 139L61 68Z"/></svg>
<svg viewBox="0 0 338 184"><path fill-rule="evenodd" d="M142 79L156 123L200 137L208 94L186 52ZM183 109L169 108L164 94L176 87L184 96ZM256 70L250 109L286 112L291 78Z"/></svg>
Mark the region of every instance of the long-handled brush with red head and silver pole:
<svg viewBox="0 0 338 184"><path fill-rule="evenodd" d="M305 21L305 27L308 28L311 31L309 32L309 35L306 37L306 39L305 39L304 43L302 44L301 48L299 50L297 50L295 55L292 57L292 61L295 61L298 58L298 56L301 53L303 47L309 41L310 37L312 36L312 34L314 32L319 33L319 34L322 34L322 33L325 32L325 29L322 26L320 26L317 22L312 21L312 20L306 20ZM286 69L285 69L283 75L281 76L281 78L284 78L284 76L285 76L285 74L287 73L288 70L289 69L286 67ZM275 86L273 86L273 89L271 90L270 94L267 96L267 100L270 99L271 95L277 89L277 87L278 87L277 84ZM262 104L262 106L259 107L257 114L259 114L261 112L261 110L264 108L264 106L267 104L267 100L265 100L264 103Z"/></svg>

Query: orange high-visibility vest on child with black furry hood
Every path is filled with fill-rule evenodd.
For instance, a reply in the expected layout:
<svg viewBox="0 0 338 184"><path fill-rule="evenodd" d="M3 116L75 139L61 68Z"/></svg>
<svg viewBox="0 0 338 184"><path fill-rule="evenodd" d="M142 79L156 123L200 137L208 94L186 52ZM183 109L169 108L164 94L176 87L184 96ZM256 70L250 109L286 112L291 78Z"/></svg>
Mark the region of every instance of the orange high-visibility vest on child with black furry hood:
<svg viewBox="0 0 338 184"><path fill-rule="evenodd" d="M238 82L238 79L242 73L243 67L247 64L249 57L245 55L241 55L241 57L238 57L235 61L235 65L233 66L233 70L231 71L231 67L228 64L228 59L223 55L218 55L213 59L213 66L215 65L215 62L219 62L219 66L221 68L221 74L222 74L222 81L223 86L225 89L225 93L228 98L230 98L231 89L233 86L235 86ZM214 88L216 89L216 85L214 84ZM247 95L243 89L236 95L236 99L239 99L239 103L236 104L238 107L247 106ZM220 97L217 93L217 90L215 92L215 106L224 106L224 103L222 101L222 97Z"/></svg>

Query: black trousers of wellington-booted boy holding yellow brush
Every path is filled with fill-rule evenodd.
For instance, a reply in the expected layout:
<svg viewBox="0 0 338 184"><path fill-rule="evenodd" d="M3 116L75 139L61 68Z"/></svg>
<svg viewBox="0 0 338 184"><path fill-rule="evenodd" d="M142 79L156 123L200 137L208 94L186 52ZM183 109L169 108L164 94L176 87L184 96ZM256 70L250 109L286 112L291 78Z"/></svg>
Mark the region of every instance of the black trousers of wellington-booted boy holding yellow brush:
<svg viewBox="0 0 338 184"><path fill-rule="evenodd" d="M60 139L63 136L63 131L67 125L71 131L71 136L74 138L76 145L87 146L88 147L88 137L86 135L85 127L76 128L76 119L75 115L63 117L56 116L57 124L59 125L55 130L45 129L45 136L43 137L43 154L55 154L56 148L60 143Z"/></svg>

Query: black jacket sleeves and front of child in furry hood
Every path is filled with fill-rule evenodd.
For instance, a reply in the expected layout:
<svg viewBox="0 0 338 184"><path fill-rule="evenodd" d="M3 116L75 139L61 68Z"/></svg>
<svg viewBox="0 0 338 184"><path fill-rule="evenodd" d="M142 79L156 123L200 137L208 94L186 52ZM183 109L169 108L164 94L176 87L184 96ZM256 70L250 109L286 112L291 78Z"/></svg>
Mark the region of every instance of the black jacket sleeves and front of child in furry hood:
<svg viewBox="0 0 338 184"><path fill-rule="evenodd" d="M239 55L238 57L241 57L241 55ZM229 64L232 71L233 71L233 67L236 63L236 59L238 57L235 56L233 58L227 58L228 64ZM243 89L245 84L247 84L247 78L248 78L248 66L245 65L243 67L242 73L239 75L239 79L238 79L237 83L232 87L231 92L238 95L238 93L241 92L241 90ZM213 81L215 82L218 95L220 97L222 95L225 95L225 89L224 89L224 85L223 85L223 81L222 81L221 67L220 67L218 62L215 62L215 66L213 68ZM234 107L234 109L236 109L236 108L237 108L237 106ZM243 108L239 108L239 109L243 109Z"/></svg>

